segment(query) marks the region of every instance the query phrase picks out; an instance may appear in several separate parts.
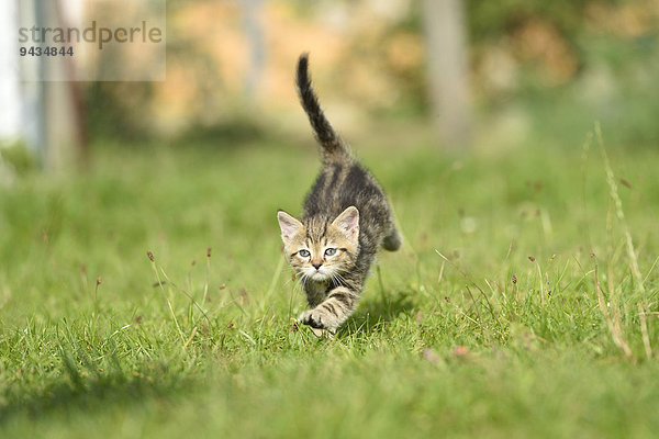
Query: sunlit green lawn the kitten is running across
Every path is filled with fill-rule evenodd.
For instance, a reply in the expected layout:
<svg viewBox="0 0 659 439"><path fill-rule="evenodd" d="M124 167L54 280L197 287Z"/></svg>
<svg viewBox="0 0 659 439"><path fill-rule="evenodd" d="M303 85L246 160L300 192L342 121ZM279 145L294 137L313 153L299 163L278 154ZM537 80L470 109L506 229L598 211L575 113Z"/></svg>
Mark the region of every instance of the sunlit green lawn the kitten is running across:
<svg viewBox="0 0 659 439"><path fill-rule="evenodd" d="M0 436L659 430L655 153L359 144L406 243L327 340L275 216L310 144L104 145L1 189Z"/></svg>

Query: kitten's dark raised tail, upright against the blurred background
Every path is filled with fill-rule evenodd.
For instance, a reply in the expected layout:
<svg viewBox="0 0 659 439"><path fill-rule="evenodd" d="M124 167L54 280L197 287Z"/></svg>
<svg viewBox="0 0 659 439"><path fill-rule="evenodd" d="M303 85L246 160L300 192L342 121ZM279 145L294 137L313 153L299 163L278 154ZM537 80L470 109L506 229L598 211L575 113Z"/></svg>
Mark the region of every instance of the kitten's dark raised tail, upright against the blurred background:
<svg viewBox="0 0 659 439"><path fill-rule="evenodd" d="M313 91L309 76L309 54L300 55L298 60L298 94L302 108L309 116L316 139L321 144L323 161L344 161L349 158L348 149L342 138L336 134L327 117L321 109L319 99Z"/></svg>

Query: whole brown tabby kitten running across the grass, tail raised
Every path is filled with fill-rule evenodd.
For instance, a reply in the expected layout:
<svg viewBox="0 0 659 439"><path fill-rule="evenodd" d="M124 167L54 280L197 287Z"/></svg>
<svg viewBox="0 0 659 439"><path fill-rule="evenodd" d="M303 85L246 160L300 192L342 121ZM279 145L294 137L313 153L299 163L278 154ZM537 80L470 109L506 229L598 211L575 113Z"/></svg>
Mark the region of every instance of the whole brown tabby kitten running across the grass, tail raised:
<svg viewBox="0 0 659 439"><path fill-rule="evenodd" d="M284 254L304 285L310 309L300 315L314 328L336 329L350 316L378 247L401 246L387 198L350 155L325 117L308 72L298 61L298 93L321 145L322 169L304 201L302 219L277 213Z"/></svg>

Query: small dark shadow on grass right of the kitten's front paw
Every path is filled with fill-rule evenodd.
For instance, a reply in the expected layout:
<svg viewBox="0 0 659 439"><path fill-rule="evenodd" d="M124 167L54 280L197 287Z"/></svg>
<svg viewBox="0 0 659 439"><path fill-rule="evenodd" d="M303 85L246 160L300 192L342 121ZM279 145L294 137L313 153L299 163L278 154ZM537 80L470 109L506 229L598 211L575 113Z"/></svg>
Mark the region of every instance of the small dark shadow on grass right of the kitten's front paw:
<svg viewBox="0 0 659 439"><path fill-rule="evenodd" d="M413 295L412 292L403 291L364 301L340 334L350 336L378 331L383 324L392 322L400 314L407 314L414 307Z"/></svg>

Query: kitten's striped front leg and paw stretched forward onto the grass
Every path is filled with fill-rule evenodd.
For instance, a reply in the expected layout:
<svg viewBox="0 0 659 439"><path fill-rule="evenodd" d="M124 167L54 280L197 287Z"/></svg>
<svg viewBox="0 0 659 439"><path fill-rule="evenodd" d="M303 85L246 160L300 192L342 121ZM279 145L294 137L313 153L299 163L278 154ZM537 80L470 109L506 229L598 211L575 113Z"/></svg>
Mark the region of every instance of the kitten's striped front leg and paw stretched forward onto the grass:
<svg viewBox="0 0 659 439"><path fill-rule="evenodd" d="M334 334L353 314L358 299L359 293L345 286L337 286L330 291L327 299L319 306L303 312L300 322L312 328L327 329Z"/></svg>

